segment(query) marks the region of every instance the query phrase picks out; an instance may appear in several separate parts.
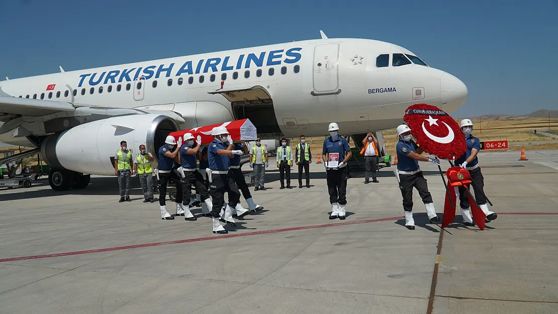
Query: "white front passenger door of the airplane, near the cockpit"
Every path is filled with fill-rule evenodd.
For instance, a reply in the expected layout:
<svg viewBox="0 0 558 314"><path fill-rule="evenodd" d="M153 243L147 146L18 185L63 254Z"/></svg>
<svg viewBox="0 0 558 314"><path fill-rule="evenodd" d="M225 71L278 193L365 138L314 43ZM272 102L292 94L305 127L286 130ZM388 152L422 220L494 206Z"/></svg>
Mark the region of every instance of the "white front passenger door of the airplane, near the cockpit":
<svg viewBox="0 0 558 314"><path fill-rule="evenodd" d="M324 44L314 47L312 95L339 94L339 44Z"/></svg>

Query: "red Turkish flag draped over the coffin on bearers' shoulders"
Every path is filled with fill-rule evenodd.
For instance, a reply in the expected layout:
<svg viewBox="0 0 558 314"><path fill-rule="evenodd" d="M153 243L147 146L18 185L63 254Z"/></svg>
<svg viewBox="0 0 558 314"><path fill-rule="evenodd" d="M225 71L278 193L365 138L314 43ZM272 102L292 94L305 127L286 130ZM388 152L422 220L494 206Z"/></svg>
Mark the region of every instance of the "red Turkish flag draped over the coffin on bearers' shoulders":
<svg viewBox="0 0 558 314"><path fill-rule="evenodd" d="M225 123L206 125L205 127L198 127L193 129L181 130L172 132L169 135L174 136L176 142L179 138L184 137L186 133L192 133L194 140L201 136L201 145L206 145L213 142L211 130L214 127L225 127L229 131L230 137L233 142L255 141L258 137L256 127L249 119L234 120ZM183 140L181 142L184 142Z"/></svg>

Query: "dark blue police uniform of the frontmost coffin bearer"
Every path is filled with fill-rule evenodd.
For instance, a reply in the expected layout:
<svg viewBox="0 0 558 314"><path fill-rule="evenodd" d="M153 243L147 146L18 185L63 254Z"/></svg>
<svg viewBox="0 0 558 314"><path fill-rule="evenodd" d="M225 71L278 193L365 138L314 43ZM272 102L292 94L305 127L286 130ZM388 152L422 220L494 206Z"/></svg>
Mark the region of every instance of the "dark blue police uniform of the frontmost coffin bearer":
<svg viewBox="0 0 558 314"><path fill-rule="evenodd" d="M213 218L219 218L219 213L224 204L225 192L228 193L228 204L233 209L237 206L238 200L240 199L240 192L235 185L232 176L229 175L230 157L221 156L217 153L219 149L227 149L224 143L215 139L208 147L208 162L209 168L212 171L220 171L224 173L213 173L211 175L211 180L209 183L209 194L213 201L213 209L211 209L211 216ZM235 225L230 223L230 225Z"/></svg>

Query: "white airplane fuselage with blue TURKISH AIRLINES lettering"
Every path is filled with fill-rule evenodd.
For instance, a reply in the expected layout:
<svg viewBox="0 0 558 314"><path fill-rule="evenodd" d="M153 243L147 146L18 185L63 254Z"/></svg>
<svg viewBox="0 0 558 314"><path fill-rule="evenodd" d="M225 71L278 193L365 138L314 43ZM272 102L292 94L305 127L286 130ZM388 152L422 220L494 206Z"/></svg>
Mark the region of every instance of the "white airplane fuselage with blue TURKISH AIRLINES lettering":
<svg viewBox="0 0 558 314"><path fill-rule="evenodd" d="M378 67L382 54L389 55L388 66ZM181 128L193 128L241 118L229 100L209 91L259 85L271 96L278 128L287 138L324 136L330 122L338 123L343 134L394 128L412 104L436 105L450 113L465 102L467 89L459 79L425 65L394 66L393 54L414 56L375 40L308 40L11 79L0 82L0 96L174 111L186 121ZM49 133L48 119L30 119L26 128L33 134L54 133ZM12 133L0 136L0 142L30 145Z"/></svg>

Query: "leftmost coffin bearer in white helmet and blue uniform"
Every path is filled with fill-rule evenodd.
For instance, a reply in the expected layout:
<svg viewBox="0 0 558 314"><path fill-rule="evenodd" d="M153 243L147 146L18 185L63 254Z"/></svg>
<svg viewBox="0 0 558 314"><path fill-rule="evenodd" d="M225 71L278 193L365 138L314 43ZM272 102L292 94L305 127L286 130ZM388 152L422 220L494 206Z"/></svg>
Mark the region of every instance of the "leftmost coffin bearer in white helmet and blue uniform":
<svg viewBox="0 0 558 314"><path fill-rule="evenodd" d="M169 214L166 206L167 197L167 184L172 181L176 185L176 211L180 213L182 209L182 186L180 178L173 170L174 163L176 162L176 155L180 149L176 147L176 140L173 136L169 135L165 139L165 145L159 148L158 166L157 166L157 180L159 181L159 205L161 205L161 219L173 220L174 217ZM184 214L182 214L184 215Z"/></svg>

